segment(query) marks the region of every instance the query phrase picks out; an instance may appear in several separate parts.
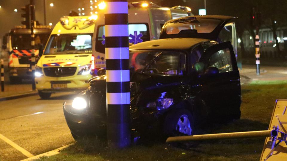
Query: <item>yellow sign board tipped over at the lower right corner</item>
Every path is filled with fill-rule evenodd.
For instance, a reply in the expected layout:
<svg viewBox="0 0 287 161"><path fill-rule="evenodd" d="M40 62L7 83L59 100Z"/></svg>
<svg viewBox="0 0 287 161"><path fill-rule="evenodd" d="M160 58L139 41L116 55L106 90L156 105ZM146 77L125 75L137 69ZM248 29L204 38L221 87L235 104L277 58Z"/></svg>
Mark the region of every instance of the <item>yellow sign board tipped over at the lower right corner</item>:
<svg viewBox="0 0 287 161"><path fill-rule="evenodd" d="M269 124L269 130L276 129L276 137L266 137L260 161L287 160L287 99L277 99Z"/></svg>

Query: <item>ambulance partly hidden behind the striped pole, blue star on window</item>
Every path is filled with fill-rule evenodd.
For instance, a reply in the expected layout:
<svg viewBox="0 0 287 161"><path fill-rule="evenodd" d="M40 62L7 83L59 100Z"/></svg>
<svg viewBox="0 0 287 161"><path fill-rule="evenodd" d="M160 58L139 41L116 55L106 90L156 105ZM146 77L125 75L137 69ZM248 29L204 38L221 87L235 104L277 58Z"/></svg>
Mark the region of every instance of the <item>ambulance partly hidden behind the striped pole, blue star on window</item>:
<svg viewBox="0 0 287 161"><path fill-rule="evenodd" d="M161 27L165 22L170 19L186 16L193 16L193 14L185 10L160 7L152 2L142 1L129 3L129 42L137 44L159 39ZM92 41L92 51L95 56L95 73L97 73L97 70L106 67L104 24L104 16L99 16L95 25L96 32L94 32Z"/></svg>

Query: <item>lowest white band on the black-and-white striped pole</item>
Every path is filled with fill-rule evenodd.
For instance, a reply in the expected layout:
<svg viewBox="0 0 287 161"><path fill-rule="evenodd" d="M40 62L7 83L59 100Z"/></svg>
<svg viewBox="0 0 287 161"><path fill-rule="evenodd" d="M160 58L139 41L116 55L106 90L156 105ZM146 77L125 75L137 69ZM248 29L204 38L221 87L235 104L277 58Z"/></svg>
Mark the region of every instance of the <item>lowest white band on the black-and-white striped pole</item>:
<svg viewBox="0 0 287 161"><path fill-rule="evenodd" d="M125 105L130 102L130 93L107 93L107 104Z"/></svg>

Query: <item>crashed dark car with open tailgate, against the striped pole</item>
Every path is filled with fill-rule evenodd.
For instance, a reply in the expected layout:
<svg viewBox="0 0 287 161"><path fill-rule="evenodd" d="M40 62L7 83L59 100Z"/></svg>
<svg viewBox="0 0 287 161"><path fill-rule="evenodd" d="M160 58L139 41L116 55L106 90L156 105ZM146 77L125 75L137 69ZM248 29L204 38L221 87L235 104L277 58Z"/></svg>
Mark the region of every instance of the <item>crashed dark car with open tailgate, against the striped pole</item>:
<svg viewBox="0 0 287 161"><path fill-rule="evenodd" d="M230 42L216 41L230 19L193 16L170 20L162 28L161 39L130 46L134 137L192 135L194 127L207 120L240 118L240 79L233 47ZM86 91L72 103L64 103L65 119L75 139L105 134L105 79L105 75L90 79Z"/></svg>

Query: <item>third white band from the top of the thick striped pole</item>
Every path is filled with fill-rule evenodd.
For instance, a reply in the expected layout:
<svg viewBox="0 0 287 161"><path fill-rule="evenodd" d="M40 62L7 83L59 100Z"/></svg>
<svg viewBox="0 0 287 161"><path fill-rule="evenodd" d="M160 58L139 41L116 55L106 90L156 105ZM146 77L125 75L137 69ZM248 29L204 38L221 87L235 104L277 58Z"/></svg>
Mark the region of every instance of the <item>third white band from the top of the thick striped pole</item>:
<svg viewBox="0 0 287 161"><path fill-rule="evenodd" d="M128 47L107 47L106 59L129 59Z"/></svg>

